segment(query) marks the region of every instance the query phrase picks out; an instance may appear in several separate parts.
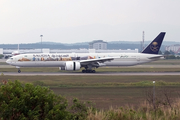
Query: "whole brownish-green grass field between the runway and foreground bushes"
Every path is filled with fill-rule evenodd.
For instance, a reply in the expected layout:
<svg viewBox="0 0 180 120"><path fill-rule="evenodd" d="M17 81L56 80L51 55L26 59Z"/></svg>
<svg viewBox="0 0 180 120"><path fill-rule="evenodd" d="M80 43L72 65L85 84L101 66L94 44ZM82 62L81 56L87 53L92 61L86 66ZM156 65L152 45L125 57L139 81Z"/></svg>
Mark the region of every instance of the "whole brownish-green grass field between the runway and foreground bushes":
<svg viewBox="0 0 180 120"><path fill-rule="evenodd" d="M49 86L56 94L71 100L92 101L96 107L138 105L145 100L145 91L153 88L180 91L180 76L0 76L2 80ZM173 94L173 98L178 97Z"/></svg>

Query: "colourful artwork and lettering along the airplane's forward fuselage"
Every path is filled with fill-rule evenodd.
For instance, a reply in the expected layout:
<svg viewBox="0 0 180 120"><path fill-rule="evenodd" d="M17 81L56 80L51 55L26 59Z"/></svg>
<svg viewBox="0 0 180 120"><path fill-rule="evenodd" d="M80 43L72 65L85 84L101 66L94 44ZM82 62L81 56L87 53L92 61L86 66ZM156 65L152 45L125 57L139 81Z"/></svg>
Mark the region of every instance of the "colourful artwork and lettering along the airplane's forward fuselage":
<svg viewBox="0 0 180 120"><path fill-rule="evenodd" d="M91 56L83 56L83 57L70 57L69 55L60 55L60 54L33 54L33 58L28 58L27 55L24 55L18 61L74 61L74 60L88 60L94 59Z"/></svg>

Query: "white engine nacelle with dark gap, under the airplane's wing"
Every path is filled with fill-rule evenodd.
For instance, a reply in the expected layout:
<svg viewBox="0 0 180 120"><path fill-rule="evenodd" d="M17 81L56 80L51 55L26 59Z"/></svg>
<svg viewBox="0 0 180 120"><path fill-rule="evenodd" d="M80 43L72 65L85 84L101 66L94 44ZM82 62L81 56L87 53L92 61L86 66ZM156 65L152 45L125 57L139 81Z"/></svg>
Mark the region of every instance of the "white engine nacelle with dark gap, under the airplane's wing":
<svg viewBox="0 0 180 120"><path fill-rule="evenodd" d="M65 70L80 70L80 62L68 61L65 65Z"/></svg>

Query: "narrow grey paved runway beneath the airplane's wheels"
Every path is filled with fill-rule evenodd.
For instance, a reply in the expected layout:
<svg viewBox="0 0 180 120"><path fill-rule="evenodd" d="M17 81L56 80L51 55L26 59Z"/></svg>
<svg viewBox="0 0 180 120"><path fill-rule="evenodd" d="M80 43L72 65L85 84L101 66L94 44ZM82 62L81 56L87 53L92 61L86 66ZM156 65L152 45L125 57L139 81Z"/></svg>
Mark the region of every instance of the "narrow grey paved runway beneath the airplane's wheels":
<svg viewBox="0 0 180 120"><path fill-rule="evenodd" d="M160 76L160 75L180 75L180 72L98 72L98 73L80 73L80 72L56 72L56 73L50 73L50 72L0 72L0 75L9 75L9 76L61 76L61 75L79 75L79 76L85 76L85 75L92 75L92 76L110 76L110 75L119 75L119 76Z"/></svg>

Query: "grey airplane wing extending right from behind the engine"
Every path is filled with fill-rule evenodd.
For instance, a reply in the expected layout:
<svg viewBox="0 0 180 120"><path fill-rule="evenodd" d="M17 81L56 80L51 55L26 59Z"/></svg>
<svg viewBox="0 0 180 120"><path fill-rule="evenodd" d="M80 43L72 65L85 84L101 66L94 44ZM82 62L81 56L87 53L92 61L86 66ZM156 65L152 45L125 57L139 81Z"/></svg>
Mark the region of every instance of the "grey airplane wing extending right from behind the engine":
<svg viewBox="0 0 180 120"><path fill-rule="evenodd" d="M98 59L88 59L88 60L81 60L81 66L85 65L92 65L94 67L99 67L101 63L114 60L112 57L105 57L105 58L98 58Z"/></svg>

